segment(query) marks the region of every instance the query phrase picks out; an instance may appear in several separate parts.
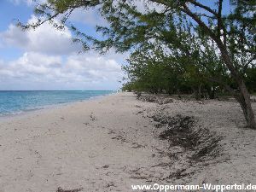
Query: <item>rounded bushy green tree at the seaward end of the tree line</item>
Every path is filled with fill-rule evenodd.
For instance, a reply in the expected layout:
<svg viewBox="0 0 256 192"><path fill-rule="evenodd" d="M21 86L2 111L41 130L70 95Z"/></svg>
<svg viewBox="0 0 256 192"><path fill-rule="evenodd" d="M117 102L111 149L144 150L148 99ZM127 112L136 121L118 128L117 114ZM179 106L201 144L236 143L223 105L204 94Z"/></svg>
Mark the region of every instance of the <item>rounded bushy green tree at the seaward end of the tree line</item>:
<svg viewBox="0 0 256 192"><path fill-rule="evenodd" d="M131 82L136 85L135 90L140 88L153 93L166 90L169 94L177 90L183 69L159 47L137 49L131 54L128 63L124 69Z"/></svg>

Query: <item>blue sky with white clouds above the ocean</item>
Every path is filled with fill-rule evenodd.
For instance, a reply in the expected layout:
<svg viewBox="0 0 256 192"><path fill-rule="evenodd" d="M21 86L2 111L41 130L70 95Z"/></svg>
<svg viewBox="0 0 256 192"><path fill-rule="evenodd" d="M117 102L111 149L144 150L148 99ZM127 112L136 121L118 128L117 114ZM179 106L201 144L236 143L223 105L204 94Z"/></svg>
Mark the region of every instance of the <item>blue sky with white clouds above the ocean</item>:
<svg viewBox="0 0 256 192"><path fill-rule="evenodd" d="M49 23L26 32L15 26L17 20L26 24L36 19L32 0L0 0L0 90L120 88L127 55L81 53L68 28L56 31ZM76 10L70 21L90 34L96 24L105 24L96 11Z"/></svg>

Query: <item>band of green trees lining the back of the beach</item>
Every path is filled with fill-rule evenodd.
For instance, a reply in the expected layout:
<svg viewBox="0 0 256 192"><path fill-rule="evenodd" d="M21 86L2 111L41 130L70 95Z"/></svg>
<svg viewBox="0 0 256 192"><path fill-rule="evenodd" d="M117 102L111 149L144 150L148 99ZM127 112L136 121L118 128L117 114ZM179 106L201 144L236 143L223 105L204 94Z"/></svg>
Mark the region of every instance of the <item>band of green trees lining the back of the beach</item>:
<svg viewBox="0 0 256 192"><path fill-rule="evenodd" d="M126 78L122 90L169 95L192 94L196 100L215 99L219 95L230 96L224 84L215 80L220 78L233 90L238 90L213 44L195 49L194 56L191 54L189 57L164 51L151 45L133 52L128 63L123 66ZM247 67L242 75L249 93L255 95L256 66Z"/></svg>

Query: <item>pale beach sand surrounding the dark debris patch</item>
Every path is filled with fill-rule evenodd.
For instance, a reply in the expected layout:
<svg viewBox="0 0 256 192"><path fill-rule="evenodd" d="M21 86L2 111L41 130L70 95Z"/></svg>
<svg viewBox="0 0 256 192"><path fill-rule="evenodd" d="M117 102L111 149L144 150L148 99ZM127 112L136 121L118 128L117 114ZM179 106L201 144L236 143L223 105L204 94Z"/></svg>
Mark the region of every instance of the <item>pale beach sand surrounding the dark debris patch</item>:
<svg viewBox="0 0 256 192"><path fill-rule="evenodd" d="M179 148L183 153L171 158L178 146L160 139L166 127L155 126L156 113L193 116L195 129L203 127L222 137L219 154L191 163L188 156L194 152ZM0 192L55 192L60 187L132 191L131 184L153 183L256 184L256 131L243 125L236 102L173 100L160 105L139 101L132 93L1 119Z"/></svg>

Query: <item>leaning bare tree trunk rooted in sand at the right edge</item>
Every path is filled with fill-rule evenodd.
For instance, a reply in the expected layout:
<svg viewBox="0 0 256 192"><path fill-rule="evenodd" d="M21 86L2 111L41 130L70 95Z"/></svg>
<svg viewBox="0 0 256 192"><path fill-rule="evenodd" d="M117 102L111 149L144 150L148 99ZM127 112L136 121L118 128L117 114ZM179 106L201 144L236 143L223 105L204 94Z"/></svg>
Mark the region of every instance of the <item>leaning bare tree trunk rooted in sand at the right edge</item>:
<svg viewBox="0 0 256 192"><path fill-rule="evenodd" d="M236 101L239 102L241 105L241 109L247 121L247 126L252 129L256 129L255 115L253 113L250 94L247 90L246 84L244 83L241 75L236 71L236 68L233 66L230 55L227 49L224 47L224 44L222 44L222 42L217 42L217 44L225 64L230 69L231 76L236 80L236 84L239 87L240 93L238 94L238 96L235 97Z"/></svg>

